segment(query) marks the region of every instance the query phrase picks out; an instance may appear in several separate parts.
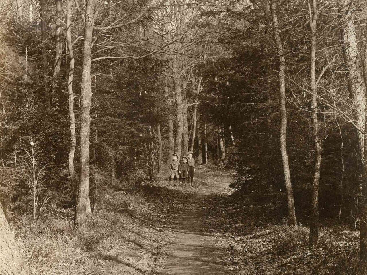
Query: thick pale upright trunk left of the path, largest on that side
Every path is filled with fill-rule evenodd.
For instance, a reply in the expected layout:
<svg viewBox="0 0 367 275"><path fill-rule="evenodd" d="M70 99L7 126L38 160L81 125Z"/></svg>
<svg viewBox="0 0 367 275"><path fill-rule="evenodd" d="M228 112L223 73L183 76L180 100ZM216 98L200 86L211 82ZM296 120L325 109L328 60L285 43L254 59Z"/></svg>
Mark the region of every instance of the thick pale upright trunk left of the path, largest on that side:
<svg viewBox="0 0 367 275"><path fill-rule="evenodd" d="M87 0L83 40L83 60L80 90L80 176L79 192L75 208L75 227L85 227L87 214L91 213L89 200L89 137L91 86L91 50L94 25L95 0Z"/></svg>

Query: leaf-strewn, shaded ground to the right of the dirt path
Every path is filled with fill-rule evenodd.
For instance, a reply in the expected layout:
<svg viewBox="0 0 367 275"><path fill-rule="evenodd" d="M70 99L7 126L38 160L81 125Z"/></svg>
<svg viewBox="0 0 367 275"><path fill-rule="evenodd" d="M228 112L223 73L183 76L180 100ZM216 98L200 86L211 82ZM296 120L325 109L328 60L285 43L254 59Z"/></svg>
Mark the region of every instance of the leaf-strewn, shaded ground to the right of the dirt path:
<svg viewBox="0 0 367 275"><path fill-rule="evenodd" d="M217 239L226 248L228 268L242 275L356 274L359 234L354 228L325 225L319 245L309 248L309 229L287 226L283 197L265 190L208 200L206 230L224 237Z"/></svg>

